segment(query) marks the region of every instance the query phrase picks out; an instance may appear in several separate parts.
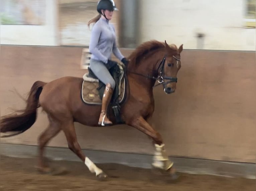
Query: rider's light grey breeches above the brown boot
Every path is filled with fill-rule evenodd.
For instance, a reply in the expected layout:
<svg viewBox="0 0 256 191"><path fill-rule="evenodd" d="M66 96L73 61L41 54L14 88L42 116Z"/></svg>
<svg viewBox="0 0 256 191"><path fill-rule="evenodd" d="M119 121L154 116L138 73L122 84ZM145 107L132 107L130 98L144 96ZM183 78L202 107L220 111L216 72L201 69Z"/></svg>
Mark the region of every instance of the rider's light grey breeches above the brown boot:
<svg viewBox="0 0 256 191"><path fill-rule="evenodd" d="M115 80L112 78L106 65L103 62L91 59L90 69L93 71L95 76L97 76L98 79L102 81L105 85L109 83L111 85L111 88L115 88Z"/></svg>

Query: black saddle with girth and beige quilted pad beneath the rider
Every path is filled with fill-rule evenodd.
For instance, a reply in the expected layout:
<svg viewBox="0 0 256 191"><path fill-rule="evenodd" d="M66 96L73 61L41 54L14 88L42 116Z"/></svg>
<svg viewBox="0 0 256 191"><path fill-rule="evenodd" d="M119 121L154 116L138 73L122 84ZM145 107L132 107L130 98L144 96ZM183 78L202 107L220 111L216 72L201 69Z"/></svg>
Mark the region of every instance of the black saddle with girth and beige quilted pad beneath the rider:
<svg viewBox="0 0 256 191"><path fill-rule="evenodd" d="M116 65L109 69L109 72L116 83L109 106L114 112L117 123L123 123L120 115L120 104L125 100L126 96L124 71L121 66ZM86 104L101 105L106 85L95 76L90 67L88 67L88 72L84 74L83 80L81 94L83 102Z"/></svg>

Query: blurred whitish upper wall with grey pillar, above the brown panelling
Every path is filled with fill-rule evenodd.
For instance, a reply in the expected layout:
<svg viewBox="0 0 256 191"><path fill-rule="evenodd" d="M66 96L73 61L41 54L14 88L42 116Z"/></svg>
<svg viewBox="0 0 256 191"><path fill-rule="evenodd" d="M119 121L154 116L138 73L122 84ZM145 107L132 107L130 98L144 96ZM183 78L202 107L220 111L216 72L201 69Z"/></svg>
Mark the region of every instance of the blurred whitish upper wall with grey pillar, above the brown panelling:
<svg viewBox="0 0 256 191"><path fill-rule="evenodd" d="M88 46L98 0L1 0L1 44ZM116 0L119 46L255 51L255 0Z"/></svg>

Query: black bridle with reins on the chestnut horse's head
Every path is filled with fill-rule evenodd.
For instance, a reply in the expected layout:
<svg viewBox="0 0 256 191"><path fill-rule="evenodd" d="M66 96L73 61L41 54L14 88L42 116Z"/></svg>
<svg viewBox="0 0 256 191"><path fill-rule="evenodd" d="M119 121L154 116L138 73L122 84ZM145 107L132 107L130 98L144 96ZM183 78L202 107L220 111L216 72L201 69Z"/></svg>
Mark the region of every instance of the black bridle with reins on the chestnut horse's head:
<svg viewBox="0 0 256 191"><path fill-rule="evenodd" d="M176 58L174 55L172 56L177 62L180 62L180 59ZM165 59L166 59L166 55L164 55L163 59L161 60L158 68L157 68L157 74L158 76L157 77L154 77L154 76L145 76L145 75L142 75L142 74L139 74L139 73L136 73L136 72L131 72L129 71L130 73L132 74L136 74L136 75L139 75L139 76L143 76L147 79L152 79L152 80L157 80L157 82L159 84L155 85L154 87L156 86L159 86L159 85L163 85L163 87L165 88L165 85L169 84L169 83L172 83L172 82L177 82L177 78L174 78L174 77L167 77L167 76L164 76L164 65L165 65ZM159 72L159 69L161 69L161 71ZM165 80L167 80L167 82L165 82Z"/></svg>

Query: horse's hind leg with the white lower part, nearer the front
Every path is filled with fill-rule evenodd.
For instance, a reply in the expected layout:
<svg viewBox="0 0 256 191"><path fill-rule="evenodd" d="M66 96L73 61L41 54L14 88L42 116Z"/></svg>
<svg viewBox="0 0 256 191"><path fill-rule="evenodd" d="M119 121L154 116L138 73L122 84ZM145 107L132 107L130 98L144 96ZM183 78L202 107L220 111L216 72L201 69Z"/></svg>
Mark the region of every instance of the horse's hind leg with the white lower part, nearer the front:
<svg viewBox="0 0 256 191"><path fill-rule="evenodd" d="M85 163L85 165L92 173L96 174L96 177L100 179L106 178L107 175L83 154L81 147L77 141L77 135L73 120L70 120L69 122L63 122L62 129L66 135L70 150L72 150Z"/></svg>

